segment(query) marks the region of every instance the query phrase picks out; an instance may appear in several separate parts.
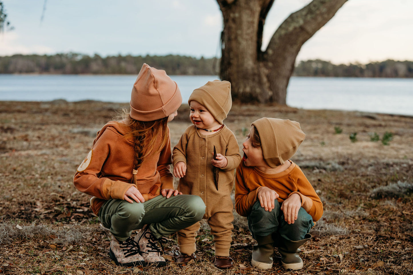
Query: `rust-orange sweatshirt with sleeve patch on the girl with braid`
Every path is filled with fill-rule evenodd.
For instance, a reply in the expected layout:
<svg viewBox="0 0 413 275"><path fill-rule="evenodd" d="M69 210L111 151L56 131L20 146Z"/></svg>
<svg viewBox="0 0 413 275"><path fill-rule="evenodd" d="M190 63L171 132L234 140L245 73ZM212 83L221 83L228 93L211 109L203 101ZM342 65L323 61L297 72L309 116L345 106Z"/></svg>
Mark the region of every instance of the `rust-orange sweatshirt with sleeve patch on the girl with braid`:
<svg viewBox="0 0 413 275"><path fill-rule="evenodd" d="M157 154L142 161L138 168L137 188L145 201L160 194L161 189L173 187L173 175L169 171L172 163L171 139ZM102 204L109 199L123 199L132 186L134 151L133 137L129 126L122 121L110 121L97 133L88 156L78 167L73 179L75 187L94 196L90 200L93 213L99 213ZM154 148L159 148L161 136Z"/></svg>

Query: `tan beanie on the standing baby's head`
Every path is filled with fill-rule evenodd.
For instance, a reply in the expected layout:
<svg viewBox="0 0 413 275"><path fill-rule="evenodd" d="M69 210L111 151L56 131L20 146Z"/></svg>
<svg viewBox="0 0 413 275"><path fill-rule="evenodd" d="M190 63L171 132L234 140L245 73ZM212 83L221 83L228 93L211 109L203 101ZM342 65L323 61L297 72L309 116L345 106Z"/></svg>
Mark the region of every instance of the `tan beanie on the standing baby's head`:
<svg viewBox="0 0 413 275"><path fill-rule="evenodd" d="M207 108L214 119L222 124L232 106L231 83L225 80L208 81L192 92L188 104L192 100Z"/></svg>

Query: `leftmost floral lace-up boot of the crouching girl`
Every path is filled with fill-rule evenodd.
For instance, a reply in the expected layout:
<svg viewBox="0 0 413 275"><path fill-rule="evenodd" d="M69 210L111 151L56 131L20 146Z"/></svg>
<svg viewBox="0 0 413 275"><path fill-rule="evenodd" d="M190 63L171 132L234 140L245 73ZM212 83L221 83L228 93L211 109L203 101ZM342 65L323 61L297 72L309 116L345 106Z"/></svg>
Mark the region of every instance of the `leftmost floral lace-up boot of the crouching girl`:
<svg viewBox="0 0 413 275"><path fill-rule="evenodd" d="M145 266L145 260L139 254L138 243L130 237L125 241L119 241L112 235L109 257L118 266Z"/></svg>

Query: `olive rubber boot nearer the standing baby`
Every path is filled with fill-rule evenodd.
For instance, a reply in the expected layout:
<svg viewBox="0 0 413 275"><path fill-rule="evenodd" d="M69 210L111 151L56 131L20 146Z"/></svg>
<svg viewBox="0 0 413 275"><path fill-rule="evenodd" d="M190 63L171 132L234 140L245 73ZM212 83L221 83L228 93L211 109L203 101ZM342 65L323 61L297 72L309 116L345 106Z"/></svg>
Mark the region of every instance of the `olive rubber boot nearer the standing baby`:
<svg viewBox="0 0 413 275"><path fill-rule="evenodd" d="M271 234L268 236L257 236L255 240L258 244L255 244L252 248L252 266L261 269L268 269L273 267L273 238Z"/></svg>

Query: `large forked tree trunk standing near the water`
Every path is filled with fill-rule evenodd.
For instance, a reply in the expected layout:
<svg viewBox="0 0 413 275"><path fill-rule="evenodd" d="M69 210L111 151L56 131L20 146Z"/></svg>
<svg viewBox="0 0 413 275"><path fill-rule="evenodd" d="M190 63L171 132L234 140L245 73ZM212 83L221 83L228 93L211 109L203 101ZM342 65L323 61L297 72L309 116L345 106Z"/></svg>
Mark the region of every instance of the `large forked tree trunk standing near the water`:
<svg viewBox="0 0 413 275"><path fill-rule="evenodd" d="M347 0L313 0L291 14L262 52L262 32L274 0L217 0L223 14L220 76L234 101L286 104L287 85L301 46Z"/></svg>

